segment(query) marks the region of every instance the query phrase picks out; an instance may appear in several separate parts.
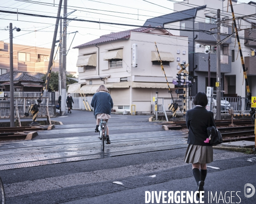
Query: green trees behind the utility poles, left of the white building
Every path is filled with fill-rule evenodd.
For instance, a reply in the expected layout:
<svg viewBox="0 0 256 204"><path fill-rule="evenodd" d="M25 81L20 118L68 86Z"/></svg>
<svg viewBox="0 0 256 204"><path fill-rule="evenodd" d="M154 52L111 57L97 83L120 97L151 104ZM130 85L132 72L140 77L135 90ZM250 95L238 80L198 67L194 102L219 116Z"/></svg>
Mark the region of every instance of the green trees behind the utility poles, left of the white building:
<svg viewBox="0 0 256 204"><path fill-rule="evenodd" d="M72 74L66 74L66 77L69 77L69 78L76 78L75 76L73 76ZM49 91L58 91L58 71L56 72L52 72L51 73L51 76L50 76L50 82L49 82ZM44 77L42 77L42 79L46 80L46 74L44 75ZM69 85L69 84L73 84L73 83L76 83L76 81L74 80L70 80L70 79L67 79L66 81L66 85ZM68 87L67 87L68 88Z"/></svg>

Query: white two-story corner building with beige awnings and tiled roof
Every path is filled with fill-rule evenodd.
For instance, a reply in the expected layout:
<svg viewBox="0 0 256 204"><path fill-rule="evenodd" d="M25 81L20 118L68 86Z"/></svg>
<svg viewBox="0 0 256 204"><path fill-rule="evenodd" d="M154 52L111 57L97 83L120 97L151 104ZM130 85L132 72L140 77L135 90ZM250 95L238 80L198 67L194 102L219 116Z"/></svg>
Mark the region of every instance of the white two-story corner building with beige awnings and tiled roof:
<svg viewBox="0 0 256 204"><path fill-rule="evenodd" d="M172 95L177 97L172 82L180 69L178 63L188 62L188 37L175 36L163 28L111 33L74 47L79 48L79 83L70 85L68 91L92 96L104 84L113 99L113 109L129 111L136 105L136 111L151 112L156 91L159 97L171 97L155 42Z"/></svg>

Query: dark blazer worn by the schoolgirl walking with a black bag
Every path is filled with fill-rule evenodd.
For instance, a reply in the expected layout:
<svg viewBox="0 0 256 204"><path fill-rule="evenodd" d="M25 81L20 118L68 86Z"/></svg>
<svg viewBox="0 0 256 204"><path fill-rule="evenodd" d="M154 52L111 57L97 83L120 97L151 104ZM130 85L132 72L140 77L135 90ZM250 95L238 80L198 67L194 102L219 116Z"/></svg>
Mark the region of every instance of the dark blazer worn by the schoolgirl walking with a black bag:
<svg viewBox="0 0 256 204"><path fill-rule="evenodd" d="M186 125L189 129L188 144L211 146L210 143L204 143L204 141L208 138L207 127L216 127L212 111L207 111L200 106L188 110L186 112Z"/></svg>

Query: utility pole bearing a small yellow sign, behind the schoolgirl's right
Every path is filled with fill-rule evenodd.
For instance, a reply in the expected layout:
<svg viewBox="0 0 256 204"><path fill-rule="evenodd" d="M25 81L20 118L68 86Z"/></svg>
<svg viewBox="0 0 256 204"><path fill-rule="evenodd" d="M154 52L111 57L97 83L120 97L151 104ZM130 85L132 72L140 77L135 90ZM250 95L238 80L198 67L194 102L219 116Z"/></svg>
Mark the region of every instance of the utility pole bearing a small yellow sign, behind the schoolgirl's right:
<svg viewBox="0 0 256 204"><path fill-rule="evenodd" d="M216 98L216 119L221 119L221 10L217 10L217 73L216 73L216 87L217 87L217 98Z"/></svg>

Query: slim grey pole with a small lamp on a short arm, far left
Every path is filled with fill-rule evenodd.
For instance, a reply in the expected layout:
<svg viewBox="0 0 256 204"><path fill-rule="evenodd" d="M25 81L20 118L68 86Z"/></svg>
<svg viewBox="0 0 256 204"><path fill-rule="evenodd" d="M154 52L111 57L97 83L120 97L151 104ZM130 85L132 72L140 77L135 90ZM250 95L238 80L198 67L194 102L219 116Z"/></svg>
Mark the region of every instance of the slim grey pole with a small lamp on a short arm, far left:
<svg viewBox="0 0 256 204"><path fill-rule="evenodd" d="M12 23L10 23L10 127L14 127L14 85L13 85L13 30L17 32L20 31L20 28L12 28Z"/></svg>

